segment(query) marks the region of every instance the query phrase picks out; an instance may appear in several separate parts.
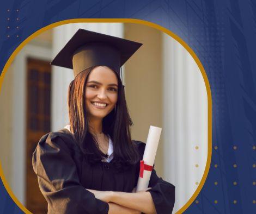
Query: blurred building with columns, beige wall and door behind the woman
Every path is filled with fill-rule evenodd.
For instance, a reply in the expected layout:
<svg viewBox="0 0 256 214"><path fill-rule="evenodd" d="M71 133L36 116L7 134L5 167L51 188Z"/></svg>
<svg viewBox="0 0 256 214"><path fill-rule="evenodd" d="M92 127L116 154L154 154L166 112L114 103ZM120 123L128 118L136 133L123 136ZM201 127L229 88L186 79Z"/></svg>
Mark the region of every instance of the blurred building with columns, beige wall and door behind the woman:
<svg viewBox="0 0 256 214"><path fill-rule="evenodd" d="M11 190L31 212L47 212L32 153L42 135L68 124L68 86L74 74L50 66L50 61L79 28L143 43L123 66L132 139L146 142L150 125L162 128L155 169L175 186L173 212L178 211L205 170L206 87L184 47L157 29L135 23L65 24L35 37L16 55L0 92L0 157Z"/></svg>

